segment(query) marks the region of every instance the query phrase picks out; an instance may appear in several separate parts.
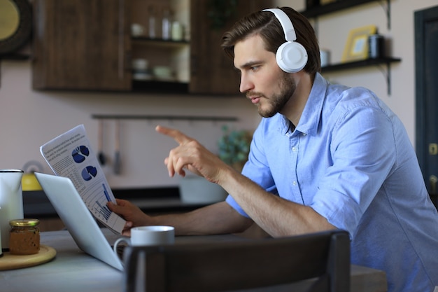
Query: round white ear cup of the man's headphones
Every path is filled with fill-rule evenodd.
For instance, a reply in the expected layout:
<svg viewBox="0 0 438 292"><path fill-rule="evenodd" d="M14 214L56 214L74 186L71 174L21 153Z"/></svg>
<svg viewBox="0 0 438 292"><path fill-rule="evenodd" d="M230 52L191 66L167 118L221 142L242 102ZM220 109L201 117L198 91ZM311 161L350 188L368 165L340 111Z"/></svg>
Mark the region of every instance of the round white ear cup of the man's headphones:
<svg viewBox="0 0 438 292"><path fill-rule="evenodd" d="M278 67L287 73L295 73L307 64L307 52L301 43L288 41L278 47L276 61Z"/></svg>

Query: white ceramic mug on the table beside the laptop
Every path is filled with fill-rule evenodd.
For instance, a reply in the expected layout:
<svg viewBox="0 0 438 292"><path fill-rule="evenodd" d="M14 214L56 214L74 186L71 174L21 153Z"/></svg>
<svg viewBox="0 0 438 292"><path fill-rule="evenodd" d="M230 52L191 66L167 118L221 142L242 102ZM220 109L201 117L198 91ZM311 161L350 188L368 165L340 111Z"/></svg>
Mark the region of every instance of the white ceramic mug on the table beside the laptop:
<svg viewBox="0 0 438 292"><path fill-rule="evenodd" d="M175 228L164 225L139 226L131 228L131 237L120 237L114 242L114 252L117 253L118 245L126 242L130 246L147 246L174 244Z"/></svg>

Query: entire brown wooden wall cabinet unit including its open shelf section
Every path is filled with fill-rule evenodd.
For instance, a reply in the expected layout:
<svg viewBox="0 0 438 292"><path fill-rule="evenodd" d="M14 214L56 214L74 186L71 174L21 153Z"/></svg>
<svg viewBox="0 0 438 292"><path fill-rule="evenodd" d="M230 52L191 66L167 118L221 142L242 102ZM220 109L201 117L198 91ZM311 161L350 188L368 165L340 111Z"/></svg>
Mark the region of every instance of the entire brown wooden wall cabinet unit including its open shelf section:
<svg viewBox="0 0 438 292"><path fill-rule="evenodd" d="M239 76L222 52L222 33L270 0L237 1L232 17L211 28L206 0L34 0L33 87L39 90L177 92L229 95L239 92ZM217 1L216 1L217 2ZM132 23L148 30L148 6L183 5L190 15L190 40L131 36ZM231 3L231 2L230 2ZM181 18L181 9L174 17ZM189 20L190 19L190 20ZM157 27L161 15L157 14ZM134 80L132 60L146 58L150 67L169 66L175 80Z"/></svg>

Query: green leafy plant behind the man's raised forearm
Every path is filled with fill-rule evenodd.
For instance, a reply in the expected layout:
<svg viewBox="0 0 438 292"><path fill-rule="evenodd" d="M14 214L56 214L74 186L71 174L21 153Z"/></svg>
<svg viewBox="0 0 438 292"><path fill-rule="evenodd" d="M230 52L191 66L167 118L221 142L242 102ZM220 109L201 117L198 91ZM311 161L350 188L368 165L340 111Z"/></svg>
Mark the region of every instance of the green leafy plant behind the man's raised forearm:
<svg viewBox="0 0 438 292"><path fill-rule="evenodd" d="M222 126L222 132L218 141L219 158L240 172L248 160L253 135L248 130L231 130L227 125Z"/></svg>

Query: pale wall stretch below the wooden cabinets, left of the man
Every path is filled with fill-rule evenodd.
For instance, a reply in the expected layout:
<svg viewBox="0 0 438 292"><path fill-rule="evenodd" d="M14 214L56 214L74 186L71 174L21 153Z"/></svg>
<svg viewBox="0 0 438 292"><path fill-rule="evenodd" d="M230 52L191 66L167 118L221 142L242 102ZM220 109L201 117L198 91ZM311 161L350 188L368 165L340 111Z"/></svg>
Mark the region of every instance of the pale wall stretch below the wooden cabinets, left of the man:
<svg viewBox="0 0 438 292"><path fill-rule="evenodd" d="M236 88L238 90L238 88ZM29 160L46 165L39 147L66 130L83 123L97 153L98 120L93 114L231 116L239 122L230 127L254 130L260 118L255 106L243 96L189 97L84 92L41 92L31 90L29 61L3 61L0 88L0 168L22 168ZM155 132L160 123L183 130L209 148L217 150L224 123L211 121L121 120L122 173L104 167L112 187L165 186L178 184L170 179L164 158L176 146L173 139ZM114 157L113 120L105 120L104 151ZM45 172L52 173L48 167Z"/></svg>

